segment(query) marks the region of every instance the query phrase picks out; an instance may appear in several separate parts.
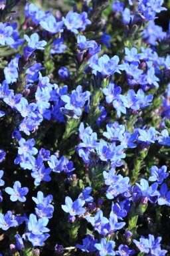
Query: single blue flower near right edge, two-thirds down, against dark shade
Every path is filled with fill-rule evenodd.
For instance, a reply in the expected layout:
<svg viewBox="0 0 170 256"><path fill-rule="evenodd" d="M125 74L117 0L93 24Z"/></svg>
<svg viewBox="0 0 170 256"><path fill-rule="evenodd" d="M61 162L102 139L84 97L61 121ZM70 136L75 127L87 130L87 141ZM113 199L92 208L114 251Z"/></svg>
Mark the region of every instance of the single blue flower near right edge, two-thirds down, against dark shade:
<svg viewBox="0 0 170 256"><path fill-rule="evenodd" d="M166 172L167 171L167 166L161 166L161 168L157 168L157 166L152 166L152 168L150 169L151 175L149 177L149 180L151 182L157 182L157 184L161 184L163 183L163 180L167 178L167 176L169 176L169 173Z"/></svg>

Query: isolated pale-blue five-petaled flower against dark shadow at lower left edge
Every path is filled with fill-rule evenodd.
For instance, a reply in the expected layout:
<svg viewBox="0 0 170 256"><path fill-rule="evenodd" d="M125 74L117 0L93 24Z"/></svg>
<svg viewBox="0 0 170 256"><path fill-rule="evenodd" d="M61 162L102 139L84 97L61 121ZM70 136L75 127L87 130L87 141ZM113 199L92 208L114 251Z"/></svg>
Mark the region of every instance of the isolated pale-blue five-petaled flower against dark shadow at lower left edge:
<svg viewBox="0 0 170 256"><path fill-rule="evenodd" d="M29 188L24 187L21 188L21 183L19 181L15 182L13 188L7 187L5 188L5 192L9 193L11 201L26 201L25 195L29 192Z"/></svg>

